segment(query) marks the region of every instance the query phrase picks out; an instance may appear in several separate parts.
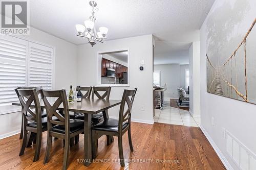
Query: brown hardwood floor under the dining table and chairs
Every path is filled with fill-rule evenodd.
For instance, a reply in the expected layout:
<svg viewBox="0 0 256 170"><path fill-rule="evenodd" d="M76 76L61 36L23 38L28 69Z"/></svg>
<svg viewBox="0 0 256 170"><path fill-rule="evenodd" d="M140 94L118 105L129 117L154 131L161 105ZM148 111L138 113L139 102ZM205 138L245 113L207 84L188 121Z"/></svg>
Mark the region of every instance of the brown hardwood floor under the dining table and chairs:
<svg viewBox="0 0 256 170"><path fill-rule="evenodd" d="M118 162L117 138L106 146L104 136L99 139L95 162L86 167L77 161L83 159L83 136L80 135L79 143L70 149L68 169L225 169L199 128L132 123L132 139L134 152L130 153L127 134L123 135L124 159L131 160L125 163L124 168ZM46 150L46 132L42 137L41 154L37 162L33 162L35 145L26 148L23 156L18 156L21 143L19 134L0 140L0 169L61 169L62 140L53 141L50 161L45 165L42 162Z"/></svg>

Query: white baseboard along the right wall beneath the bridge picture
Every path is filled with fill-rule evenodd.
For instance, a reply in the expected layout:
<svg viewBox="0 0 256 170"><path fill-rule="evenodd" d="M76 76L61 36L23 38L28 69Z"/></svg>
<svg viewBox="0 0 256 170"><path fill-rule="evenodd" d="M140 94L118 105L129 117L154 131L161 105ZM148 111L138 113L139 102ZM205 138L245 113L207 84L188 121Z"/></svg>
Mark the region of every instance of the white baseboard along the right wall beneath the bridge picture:
<svg viewBox="0 0 256 170"><path fill-rule="evenodd" d="M232 166L229 164L229 162L227 161L227 159L225 158L225 156L222 154L222 152L220 151L220 149L217 147L217 145L215 144L214 140L211 139L210 135L207 133L207 131L203 128L203 126L200 126L200 129L202 130L202 132L204 133L205 137L208 139L208 141L211 144L211 147L214 148L215 152L217 153L217 155L219 156L221 162L224 164L224 166L226 167L227 170L233 170Z"/></svg>

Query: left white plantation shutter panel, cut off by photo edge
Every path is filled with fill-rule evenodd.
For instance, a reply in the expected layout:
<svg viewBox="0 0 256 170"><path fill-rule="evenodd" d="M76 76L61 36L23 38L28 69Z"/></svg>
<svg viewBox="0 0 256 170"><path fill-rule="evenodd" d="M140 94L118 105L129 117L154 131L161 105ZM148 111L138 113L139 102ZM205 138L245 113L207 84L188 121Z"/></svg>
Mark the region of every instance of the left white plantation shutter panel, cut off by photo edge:
<svg viewBox="0 0 256 170"><path fill-rule="evenodd" d="M28 41L0 37L0 106L18 101L15 88L27 85Z"/></svg>

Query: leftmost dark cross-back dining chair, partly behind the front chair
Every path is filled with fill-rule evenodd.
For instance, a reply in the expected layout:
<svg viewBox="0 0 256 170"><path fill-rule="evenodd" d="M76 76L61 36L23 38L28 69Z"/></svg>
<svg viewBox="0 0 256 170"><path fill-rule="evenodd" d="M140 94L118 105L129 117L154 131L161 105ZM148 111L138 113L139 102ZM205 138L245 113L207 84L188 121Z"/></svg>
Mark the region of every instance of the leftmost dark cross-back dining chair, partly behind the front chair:
<svg viewBox="0 0 256 170"><path fill-rule="evenodd" d="M19 156L24 154L26 145L31 145L32 137L29 136L36 134L36 149L34 155L34 162L39 159L41 148L42 132L47 131L47 117L41 116L41 107L38 99L36 89L19 89L16 88L15 92L18 96L20 105L22 106L23 117L23 143L20 148ZM27 99L27 100L25 100ZM31 104L34 104L34 110L31 109ZM29 144L30 143L30 144Z"/></svg>

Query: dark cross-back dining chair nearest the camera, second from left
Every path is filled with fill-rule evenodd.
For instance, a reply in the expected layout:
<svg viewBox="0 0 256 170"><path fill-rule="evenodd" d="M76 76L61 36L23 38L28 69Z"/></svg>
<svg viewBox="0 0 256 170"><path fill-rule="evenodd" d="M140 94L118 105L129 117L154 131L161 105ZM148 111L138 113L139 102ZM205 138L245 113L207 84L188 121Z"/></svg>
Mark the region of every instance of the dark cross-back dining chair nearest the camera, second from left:
<svg viewBox="0 0 256 170"><path fill-rule="evenodd" d="M76 135L83 133L83 120L70 119L69 117L69 105L67 100L66 90L40 90L42 100L44 101L47 113L47 147L44 164L49 161L50 149L52 144L52 137L65 139L65 149L63 156L63 169L68 167L68 157L70 148L70 139ZM56 99L57 98L57 99ZM60 105L63 105L62 116L58 110ZM56 116L58 119L53 119Z"/></svg>

